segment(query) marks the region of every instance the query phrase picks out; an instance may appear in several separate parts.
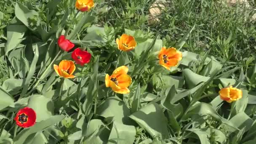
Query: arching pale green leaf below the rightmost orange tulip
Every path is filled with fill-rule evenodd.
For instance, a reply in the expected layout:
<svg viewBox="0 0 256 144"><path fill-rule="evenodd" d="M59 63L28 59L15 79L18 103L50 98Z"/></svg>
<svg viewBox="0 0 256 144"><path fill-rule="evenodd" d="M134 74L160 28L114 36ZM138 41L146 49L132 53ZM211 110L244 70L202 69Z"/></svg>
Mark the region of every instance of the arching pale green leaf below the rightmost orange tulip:
<svg viewBox="0 0 256 144"><path fill-rule="evenodd" d="M192 107L190 107L188 109L188 112L185 115L183 120L186 120L187 118L189 118L191 115L194 115L194 114L198 114L198 115L201 115L201 116L203 116L203 115L211 115L213 118L215 118L219 122L224 123L226 125L229 125L233 129L237 129L236 123L232 123L231 121L221 117L215 111L215 109L213 109L213 107L211 105L209 105L209 104L206 104L206 103L203 103L203 102L198 102L197 104L193 105Z"/></svg>

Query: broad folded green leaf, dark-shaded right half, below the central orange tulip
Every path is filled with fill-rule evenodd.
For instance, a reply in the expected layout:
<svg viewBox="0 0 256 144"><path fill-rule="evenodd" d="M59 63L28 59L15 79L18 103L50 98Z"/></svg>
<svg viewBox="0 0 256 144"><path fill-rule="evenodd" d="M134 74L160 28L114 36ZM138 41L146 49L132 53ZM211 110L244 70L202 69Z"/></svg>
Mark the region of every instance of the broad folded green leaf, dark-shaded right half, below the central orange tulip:
<svg viewBox="0 0 256 144"><path fill-rule="evenodd" d="M167 120L158 104L149 104L129 117L144 128L152 138L155 136L160 136L163 139L169 138Z"/></svg>

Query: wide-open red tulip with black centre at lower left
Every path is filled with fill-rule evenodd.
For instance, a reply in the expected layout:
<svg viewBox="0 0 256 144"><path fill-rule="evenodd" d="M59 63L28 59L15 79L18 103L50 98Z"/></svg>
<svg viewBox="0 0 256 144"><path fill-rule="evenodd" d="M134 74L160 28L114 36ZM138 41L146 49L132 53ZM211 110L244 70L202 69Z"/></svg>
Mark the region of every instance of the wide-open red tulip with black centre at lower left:
<svg viewBox="0 0 256 144"><path fill-rule="evenodd" d="M19 110L14 120L16 121L16 125L22 128L28 128L35 124L36 118L35 111L30 107L25 107Z"/></svg>

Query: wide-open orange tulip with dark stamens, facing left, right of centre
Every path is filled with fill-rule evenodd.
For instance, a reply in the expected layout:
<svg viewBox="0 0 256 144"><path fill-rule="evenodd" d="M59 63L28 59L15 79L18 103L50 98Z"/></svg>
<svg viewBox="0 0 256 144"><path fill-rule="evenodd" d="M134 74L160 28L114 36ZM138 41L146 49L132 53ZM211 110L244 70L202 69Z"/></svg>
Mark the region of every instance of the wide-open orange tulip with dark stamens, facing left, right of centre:
<svg viewBox="0 0 256 144"><path fill-rule="evenodd" d="M176 48L163 47L158 54L159 64L166 69L170 70L170 67L175 67L178 65L179 61L182 59L182 54L177 51Z"/></svg>

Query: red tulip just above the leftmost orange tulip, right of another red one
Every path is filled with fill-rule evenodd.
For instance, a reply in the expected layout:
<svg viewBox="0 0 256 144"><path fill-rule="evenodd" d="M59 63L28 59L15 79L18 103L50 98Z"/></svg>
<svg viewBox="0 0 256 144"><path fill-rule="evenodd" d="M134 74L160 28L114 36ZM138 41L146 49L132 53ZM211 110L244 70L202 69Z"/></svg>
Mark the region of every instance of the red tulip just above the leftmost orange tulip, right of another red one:
<svg viewBox="0 0 256 144"><path fill-rule="evenodd" d="M80 48L76 48L73 51L71 56L72 56L72 59L74 59L75 62L77 64L80 64L81 66L89 63L91 59L91 53L88 53L87 51L83 51Z"/></svg>

